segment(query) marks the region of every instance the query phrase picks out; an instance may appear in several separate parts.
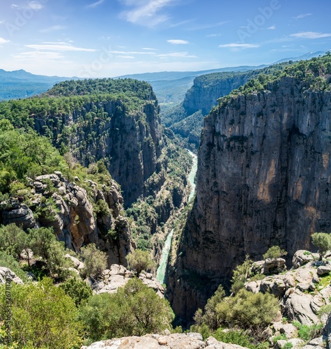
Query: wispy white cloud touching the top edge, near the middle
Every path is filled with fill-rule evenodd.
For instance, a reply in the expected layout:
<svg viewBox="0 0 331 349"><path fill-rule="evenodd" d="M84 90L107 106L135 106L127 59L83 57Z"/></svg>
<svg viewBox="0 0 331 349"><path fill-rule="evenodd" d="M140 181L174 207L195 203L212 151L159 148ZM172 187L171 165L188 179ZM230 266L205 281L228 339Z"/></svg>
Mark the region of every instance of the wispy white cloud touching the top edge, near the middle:
<svg viewBox="0 0 331 349"><path fill-rule="evenodd" d="M169 19L167 15L159 13L160 10L172 2L174 0L125 0L125 5L133 6L134 8L121 13L121 17L134 24L155 27L157 24Z"/></svg>

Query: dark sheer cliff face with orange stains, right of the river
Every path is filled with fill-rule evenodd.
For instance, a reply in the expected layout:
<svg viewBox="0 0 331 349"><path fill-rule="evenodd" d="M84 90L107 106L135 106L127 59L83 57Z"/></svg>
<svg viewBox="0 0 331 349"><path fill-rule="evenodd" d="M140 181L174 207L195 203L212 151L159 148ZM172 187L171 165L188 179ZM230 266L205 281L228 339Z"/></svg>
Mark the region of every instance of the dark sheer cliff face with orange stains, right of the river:
<svg viewBox="0 0 331 349"><path fill-rule="evenodd" d="M169 276L175 313L192 318L245 254L279 245L291 258L331 231L330 112L330 92L285 77L205 119L197 198Z"/></svg>

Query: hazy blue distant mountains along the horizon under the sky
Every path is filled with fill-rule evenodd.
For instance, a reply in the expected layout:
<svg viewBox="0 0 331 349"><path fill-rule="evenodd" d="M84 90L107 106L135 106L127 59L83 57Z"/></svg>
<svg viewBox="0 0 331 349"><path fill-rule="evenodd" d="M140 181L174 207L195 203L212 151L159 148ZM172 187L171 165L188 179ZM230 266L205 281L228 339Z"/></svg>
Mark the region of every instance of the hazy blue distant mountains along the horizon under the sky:
<svg viewBox="0 0 331 349"><path fill-rule="evenodd" d="M275 63L283 61L300 61L302 59L311 59L318 57L325 52L309 52L301 57L291 57L282 59ZM142 73L121 75L118 78L130 77L132 79L144 80L150 82L155 94L161 104L177 104L183 101L185 93L192 87L193 80L199 75L226 71L247 71L264 68L261 66L237 66L212 70L199 71L164 71L159 73ZM117 78L117 77L116 77ZM6 71L0 69L0 101L8 99L26 98L36 94L42 94L52 88L57 82L64 80L77 80L78 77L59 77L34 75L25 70Z"/></svg>

